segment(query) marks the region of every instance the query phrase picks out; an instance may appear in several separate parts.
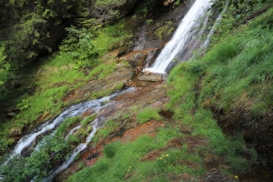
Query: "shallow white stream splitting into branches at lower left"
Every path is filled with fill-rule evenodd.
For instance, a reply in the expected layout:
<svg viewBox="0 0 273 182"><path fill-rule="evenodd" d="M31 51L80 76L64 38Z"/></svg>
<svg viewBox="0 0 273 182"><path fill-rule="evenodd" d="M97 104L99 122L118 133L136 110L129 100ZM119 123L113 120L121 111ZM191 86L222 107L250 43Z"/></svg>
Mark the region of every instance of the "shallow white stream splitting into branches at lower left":
<svg viewBox="0 0 273 182"><path fill-rule="evenodd" d="M114 98L116 96L124 95L127 92L131 92L131 91L134 91L134 90L135 90L134 87L130 87L130 88L127 88L126 90L116 92L115 94L113 94L111 96L106 96L106 97L103 97L103 98L100 98L100 99L90 100L90 101L87 101L87 102L79 103L77 105L68 107L59 116L57 116L56 119L54 119L53 121L51 121L51 120L46 121L45 124L35 128L35 130L32 133L30 133L27 136L22 137L18 141L17 145L15 146L15 149L12 152L13 154L10 155L10 158L14 157L14 154L15 155L22 155L22 152L25 150L25 148L32 147L32 145L35 143L36 139L38 137L42 136L42 135L45 135L45 133L51 132L50 135L54 136L56 134L57 126L60 126L66 120L66 118L74 117L74 116L81 116L82 114L84 114L89 109L93 109L94 113L98 113L99 111L101 111L106 106L109 106L109 105L114 103L114 101L111 101L111 102L108 102L107 104L105 104L107 101L110 101L111 98ZM68 167L73 162L76 155L78 153L80 153L81 151L83 151L87 147L87 144L89 142L91 142L92 137L96 133L96 130L99 127L103 126L103 123L104 123L105 120L106 119L104 118L104 116L100 116L100 117L96 118L91 123L91 126L93 127L93 130L86 137L86 142L82 143L82 144L79 144L74 149L74 151L72 152L72 156L68 160L66 160L60 167L57 167L55 171L52 171L51 177L56 176L56 174L58 174L59 172L64 170L66 167ZM68 138L69 135L72 135L74 133L74 131L76 129L78 129L79 127L80 127L80 125L72 128L68 132L68 134L66 136L66 139ZM41 143L43 145L43 142L41 142ZM40 144L38 144L35 147L34 150L39 150ZM3 165L6 165L8 162L9 162L9 159ZM45 181L51 181L51 179L52 179L51 177L48 177L47 179L45 179ZM1 180L1 178L0 178L0 180Z"/></svg>

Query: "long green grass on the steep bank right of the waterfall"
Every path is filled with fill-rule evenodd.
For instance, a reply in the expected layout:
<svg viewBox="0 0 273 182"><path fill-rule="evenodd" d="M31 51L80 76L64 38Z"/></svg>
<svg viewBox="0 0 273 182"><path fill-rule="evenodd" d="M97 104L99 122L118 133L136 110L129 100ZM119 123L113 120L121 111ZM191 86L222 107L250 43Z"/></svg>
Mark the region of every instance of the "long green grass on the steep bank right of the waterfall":
<svg viewBox="0 0 273 182"><path fill-rule="evenodd" d="M225 114L238 109L248 109L245 112L257 117L268 114L273 105L272 15L271 8L220 39L205 56L175 67L168 77L167 108L175 111L174 118L191 135L206 136L209 147L205 150L223 156L237 174L257 164L257 154L246 149L242 136L225 136L207 108L222 109Z"/></svg>

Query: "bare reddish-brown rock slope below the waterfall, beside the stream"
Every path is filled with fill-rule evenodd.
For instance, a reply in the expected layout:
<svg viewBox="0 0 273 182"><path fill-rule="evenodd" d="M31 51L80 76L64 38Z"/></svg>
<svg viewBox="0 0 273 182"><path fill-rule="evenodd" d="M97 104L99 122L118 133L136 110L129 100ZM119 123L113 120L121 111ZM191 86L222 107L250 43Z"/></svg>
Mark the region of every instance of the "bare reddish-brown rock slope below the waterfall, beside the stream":
<svg viewBox="0 0 273 182"><path fill-rule="evenodd" d="M128 92L121 96L116 96L112 99L114 104L106 106L102 109L97 116L104 116L107 119L116 118L123 116L126 113L131 113L132 117L127 119L133 120L130 123L120 123L120 126L110 134L105 140L99 140L95 147L86 148L86 150L81 155L81 160L86 166L91 166L96 163L99 157L102 157L102 148L113 141L121 141L126 143L129 141L134 141L138 136L148 135L156 136L156 128L165 126L162 121L151 120L143 125L137 126L136 123L136 113L146 107L152 106L155 108L163 108L164 104L167 103L168 98L166 95L166 83L150 83L132 81L129 85L136 87L132 92ZM70 97L71 98L71 97ZM75 97L73 97L75 98ZM156 105L155 105L156 103ZM87 111L84 116L92 115L93 111ZM124 129L130 128L130 129ZM121 132L119 132L121 131ZM117 135L119 133L119 136ZM92 142L91 142L92 143ZM75 173L78 168L79 161L76 161L67 167L62 173L56 177L56 181L63 181L73 173Z"/></svg>

